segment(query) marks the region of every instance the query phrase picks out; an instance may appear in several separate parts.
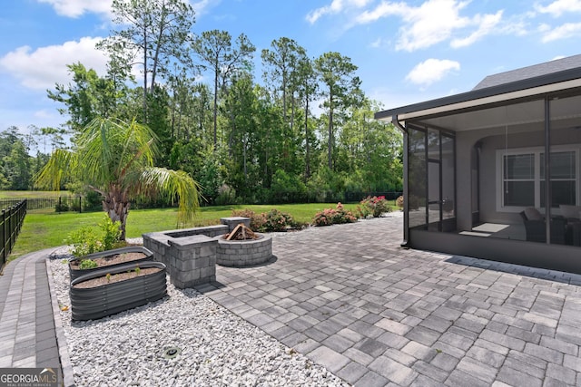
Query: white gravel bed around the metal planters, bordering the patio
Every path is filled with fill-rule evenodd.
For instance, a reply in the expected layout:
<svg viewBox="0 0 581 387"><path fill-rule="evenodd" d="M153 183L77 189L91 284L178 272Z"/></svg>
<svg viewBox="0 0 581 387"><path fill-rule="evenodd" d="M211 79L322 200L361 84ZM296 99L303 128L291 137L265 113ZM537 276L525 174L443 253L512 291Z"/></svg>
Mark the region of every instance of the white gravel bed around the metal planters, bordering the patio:
<svg viewBox="0 0 581 387"><path fill-rule="evenodd" d="M59 305L69 306L64 257L49 266ZM349 385L208 297L167 284L168 297L100 320L60 312L77 385ZM172 347L181 353L166 359Z"/></svg>

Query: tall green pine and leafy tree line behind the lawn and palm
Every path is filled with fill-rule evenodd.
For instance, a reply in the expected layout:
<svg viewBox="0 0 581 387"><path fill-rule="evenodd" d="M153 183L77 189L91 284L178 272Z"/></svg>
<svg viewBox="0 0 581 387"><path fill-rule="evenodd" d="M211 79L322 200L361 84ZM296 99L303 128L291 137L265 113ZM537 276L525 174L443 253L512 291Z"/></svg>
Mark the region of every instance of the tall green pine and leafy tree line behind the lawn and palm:
<svg viewBox="0 0 581 387"><path fill-rule="evenodd" d="M3 189L30 189L48 153L79 146L82 129L99 117L150 127L161 150L155 164L190 174L211 204L401 189L401 135L372 120L381 106L361 90L349 57L310 57L287 37L257 53L245 34L195 34L195 12L182 0L113 0L112 6L115 27L98 44L108 54L106 73L71 63L72 81L47 91L62 103L64 125L34 128L28 136L14 127L0 133ZM138 76L135 66L142 69ZM36 157L29 155L33 148ZM75 181L64 184L82 189Z"/></svg>

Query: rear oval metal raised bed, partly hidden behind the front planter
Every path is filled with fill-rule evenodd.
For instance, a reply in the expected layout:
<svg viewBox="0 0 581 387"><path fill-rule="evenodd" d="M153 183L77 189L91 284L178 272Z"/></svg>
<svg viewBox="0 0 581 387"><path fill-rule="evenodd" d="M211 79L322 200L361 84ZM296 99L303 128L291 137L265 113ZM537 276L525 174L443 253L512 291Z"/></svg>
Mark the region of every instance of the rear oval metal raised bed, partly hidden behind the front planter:
<svg viewBox="0 0 581 387"><path fill-rule="evenodd" d="M153 253L143 246L131 246L100 251L98 253L84 256L83 259L90 259L94 261L97 266L88 269L81 269L79 268L81 260L79 258L71 259L69 261L69 275L71 276L71 282L80 276L93 273L94 271L103 267L107 267L109 270L111 270L116 266L123 266L130 263L139 264L141 262L152 261Z"/></svg>

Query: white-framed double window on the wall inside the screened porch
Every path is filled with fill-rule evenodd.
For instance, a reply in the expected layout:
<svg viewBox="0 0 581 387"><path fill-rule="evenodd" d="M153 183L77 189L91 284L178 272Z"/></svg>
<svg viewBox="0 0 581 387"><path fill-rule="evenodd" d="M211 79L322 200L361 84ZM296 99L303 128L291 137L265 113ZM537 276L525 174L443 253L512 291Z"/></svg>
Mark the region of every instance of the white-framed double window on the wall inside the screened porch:
<svg viewBox="0 0 581 387"><path fill-rule="evenodd" d="M578 149L553 147L551 152L552 208L575 205L579 192ZM545 207L545 149L497 150L498 211Z"/></svg>

